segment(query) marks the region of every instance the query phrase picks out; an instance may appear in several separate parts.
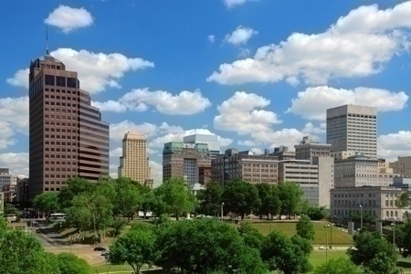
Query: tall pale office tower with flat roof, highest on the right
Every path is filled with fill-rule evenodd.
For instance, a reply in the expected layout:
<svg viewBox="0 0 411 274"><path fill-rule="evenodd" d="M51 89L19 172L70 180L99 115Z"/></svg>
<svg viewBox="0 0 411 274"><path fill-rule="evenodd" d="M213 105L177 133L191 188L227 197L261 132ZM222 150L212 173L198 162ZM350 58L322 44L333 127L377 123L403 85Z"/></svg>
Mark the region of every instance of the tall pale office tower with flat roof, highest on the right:
<svg viewBox="0 0 411 274"><path fill-rule="evenodd" d="M328 109L327 143L332 152L361 152L376 159L377 109L353 105Z"/></svg>

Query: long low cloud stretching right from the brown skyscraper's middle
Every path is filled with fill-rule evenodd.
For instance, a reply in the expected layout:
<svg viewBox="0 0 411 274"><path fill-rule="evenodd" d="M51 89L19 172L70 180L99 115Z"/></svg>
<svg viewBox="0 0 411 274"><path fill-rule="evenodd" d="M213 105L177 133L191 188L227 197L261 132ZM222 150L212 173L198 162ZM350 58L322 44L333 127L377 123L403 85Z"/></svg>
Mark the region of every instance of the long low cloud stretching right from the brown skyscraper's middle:
<svg viewBox="0 0 411 274"><path fill-rule="evenodd" d="M108 100L105 102L94 101L94 106L100 111L124 112L147 111L148 105L163 114L168 115L191 115L211 106L210 100L203 97L200 90L183 90L179 94L173 95L168 91L155 90L148 88L132 90L124 94L118 101Z"/></svg>

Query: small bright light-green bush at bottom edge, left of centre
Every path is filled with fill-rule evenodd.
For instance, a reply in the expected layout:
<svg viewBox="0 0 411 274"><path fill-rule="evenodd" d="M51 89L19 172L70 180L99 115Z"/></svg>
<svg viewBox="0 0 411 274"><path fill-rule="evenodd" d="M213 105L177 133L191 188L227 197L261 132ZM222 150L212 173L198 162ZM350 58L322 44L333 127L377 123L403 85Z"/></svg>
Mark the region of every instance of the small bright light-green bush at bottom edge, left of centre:
<svg viewBox="0 0 411 274"><path fill-rule="evenodd" d="M84 258L63 252L57 255L57 260L60 274L90 274L90 265Z"/></svg>

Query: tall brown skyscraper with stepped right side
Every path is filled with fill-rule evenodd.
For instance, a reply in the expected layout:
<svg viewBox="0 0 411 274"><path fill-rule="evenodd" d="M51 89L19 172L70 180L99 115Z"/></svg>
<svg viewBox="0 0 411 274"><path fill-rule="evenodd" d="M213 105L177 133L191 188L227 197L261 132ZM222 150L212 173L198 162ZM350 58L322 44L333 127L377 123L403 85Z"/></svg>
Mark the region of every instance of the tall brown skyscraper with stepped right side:
<svg viewBox="0 0 411 274"><path fill-rule="evenodd" d="M109 174L109 124L80 90L78 74L47 54L29 74L29 197L59 191L70 177Z"/></svg>

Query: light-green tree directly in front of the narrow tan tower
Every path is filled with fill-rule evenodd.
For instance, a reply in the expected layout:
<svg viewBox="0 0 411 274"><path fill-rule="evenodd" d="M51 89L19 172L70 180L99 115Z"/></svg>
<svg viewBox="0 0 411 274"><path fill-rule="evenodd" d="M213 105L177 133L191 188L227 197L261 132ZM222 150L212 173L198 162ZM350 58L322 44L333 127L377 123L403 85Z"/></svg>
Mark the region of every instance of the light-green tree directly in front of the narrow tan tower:
<svg viewBox="0 0 411 274"><path fill-rule="evenodd" d="M115 181L114 212L129 220L142 203L142 194L130 178L119 178Z"/></svg>

